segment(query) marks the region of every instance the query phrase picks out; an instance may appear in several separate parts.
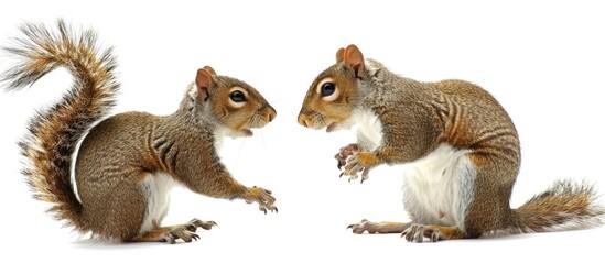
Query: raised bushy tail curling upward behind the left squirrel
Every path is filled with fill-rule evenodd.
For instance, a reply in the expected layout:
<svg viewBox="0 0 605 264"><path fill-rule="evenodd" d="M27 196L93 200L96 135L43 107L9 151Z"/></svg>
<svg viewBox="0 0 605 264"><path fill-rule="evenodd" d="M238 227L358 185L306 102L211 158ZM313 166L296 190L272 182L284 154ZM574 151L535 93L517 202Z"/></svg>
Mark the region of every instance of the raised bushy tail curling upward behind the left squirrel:
<svg viewBox="0 0 605 264"><path fill-rule="evenodd" d="M119 87L115 57L110 48L98 51L94 31L76 33L62 20L56 29L26 23L21 32L15 46L4 48L19 59L0 79L8 90L31 86L58 66L74 76L61 101L30 121L29 133L19 143L29 160L23 174L35 198L54 204L50 211L55 218L86 230L72 187L72 156L88 129L114 106Z"/></svg>

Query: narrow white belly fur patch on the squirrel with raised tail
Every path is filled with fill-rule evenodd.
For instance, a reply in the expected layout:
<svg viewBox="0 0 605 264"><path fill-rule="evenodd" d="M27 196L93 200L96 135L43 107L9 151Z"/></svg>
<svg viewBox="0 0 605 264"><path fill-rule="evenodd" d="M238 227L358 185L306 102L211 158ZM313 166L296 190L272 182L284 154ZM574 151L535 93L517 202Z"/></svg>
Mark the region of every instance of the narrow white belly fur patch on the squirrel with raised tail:
<svg viewBox="0 0 605 264"><path fill-rule="evenodd" d="M147 212L139 233L156 228L164 219L170 204L170 191L177 183L164 173L148 175L141 182L141 189L147 198Z"/></svg>

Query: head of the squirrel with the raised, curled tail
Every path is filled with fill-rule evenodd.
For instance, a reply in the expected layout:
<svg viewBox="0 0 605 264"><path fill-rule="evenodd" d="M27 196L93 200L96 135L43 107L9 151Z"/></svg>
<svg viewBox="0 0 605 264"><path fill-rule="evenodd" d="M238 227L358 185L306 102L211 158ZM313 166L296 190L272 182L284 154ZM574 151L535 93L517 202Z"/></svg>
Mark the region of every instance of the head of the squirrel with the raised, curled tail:
<svg viewBox="0 0 605 264"><path fill-rule="evenodd" d="M276 109L250 85L217 75L210 66L197 70L190 97L202 105L203 114L229 130L234 136L251 136L250 129L271 122Z"/></svg>

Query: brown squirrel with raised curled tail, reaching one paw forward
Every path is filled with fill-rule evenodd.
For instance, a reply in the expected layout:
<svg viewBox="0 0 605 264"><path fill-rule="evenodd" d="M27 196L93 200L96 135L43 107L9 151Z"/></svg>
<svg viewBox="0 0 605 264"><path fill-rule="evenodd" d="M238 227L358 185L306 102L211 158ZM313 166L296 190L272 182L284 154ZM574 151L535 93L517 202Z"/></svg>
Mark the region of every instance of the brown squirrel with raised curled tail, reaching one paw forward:
<svg viewBox="0 0 605 264"><path fill-rule="evenodd" d="M75 80L60 102L32 119L20 142L30 162L26 180L37 199L54 204L55 218L122 242L197 240L197 228L216 223L193 219L160 226L175 185L214 198L256 201L264 213L278 211L271 191L234 179L216 150L224 136L250 136L250 129L276 118L255 88L206 66L173 114L125 112L104 120L119 87L111 48L99 50L94 31L78 33L62 20L54 30L28 23L21 31L20 46L6 48L21 59L2 78L9 90L30 86L58 66Z"/></svg>

